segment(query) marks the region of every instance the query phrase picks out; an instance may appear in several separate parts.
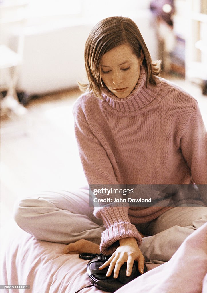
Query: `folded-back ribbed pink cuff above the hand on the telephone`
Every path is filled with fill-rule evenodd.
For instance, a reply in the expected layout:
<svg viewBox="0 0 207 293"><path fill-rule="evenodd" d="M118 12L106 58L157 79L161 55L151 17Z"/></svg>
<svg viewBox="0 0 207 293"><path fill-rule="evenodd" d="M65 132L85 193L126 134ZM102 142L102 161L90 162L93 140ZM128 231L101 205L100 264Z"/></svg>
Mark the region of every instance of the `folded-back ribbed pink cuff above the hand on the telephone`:
<svg viewBox="0 0 207 293"><path fill-rule="evenodd" d="M136 238L138 246L141 245L142 237L136 227L130 222L115 223L102 233L100 251L105 255L111 255L119 246L119 240L123 238Z"/></svg>

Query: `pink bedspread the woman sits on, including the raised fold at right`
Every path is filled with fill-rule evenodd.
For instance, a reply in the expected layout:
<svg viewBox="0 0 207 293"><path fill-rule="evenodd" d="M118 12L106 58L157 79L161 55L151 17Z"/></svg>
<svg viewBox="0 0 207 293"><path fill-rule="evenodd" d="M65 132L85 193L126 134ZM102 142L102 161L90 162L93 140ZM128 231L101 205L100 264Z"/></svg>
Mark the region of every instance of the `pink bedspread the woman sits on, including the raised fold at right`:
<svg viewBox="0 0 207 293"><path fill-rule="evenodd" d="M30 290L6 289L4 293L74 293L91 285L86 260L63 254L64 244L36 241L15 228L4 254L1 284L30 285ZM206 293L207 224L189 236L171 260L125 285L117 293ZM167 244L166 244L167 245ZM90 287L80 293L103 292Z"/></svg>

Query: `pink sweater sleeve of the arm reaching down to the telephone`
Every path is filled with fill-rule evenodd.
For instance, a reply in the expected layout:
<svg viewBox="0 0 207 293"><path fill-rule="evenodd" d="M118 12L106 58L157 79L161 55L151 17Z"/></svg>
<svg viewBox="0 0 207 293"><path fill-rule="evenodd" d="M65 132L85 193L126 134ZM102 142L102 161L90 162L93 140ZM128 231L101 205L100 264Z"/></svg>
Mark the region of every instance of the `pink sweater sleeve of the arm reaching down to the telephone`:
<svg viewBox="0 0 207 293"><path fill-rule="evenodd" d="M73 112L75 118L75 134L79 154L89 184L119 184L107 151L95 137L86 121L84 113ZM81 115L80 115L81 114ZM119 246L122 238L134 237L138 246L142 238L136 227L130 223L129 207L94 207L94 215L101 218L106 227L102 233L100 250L105 255L112 254Z"/></svg>

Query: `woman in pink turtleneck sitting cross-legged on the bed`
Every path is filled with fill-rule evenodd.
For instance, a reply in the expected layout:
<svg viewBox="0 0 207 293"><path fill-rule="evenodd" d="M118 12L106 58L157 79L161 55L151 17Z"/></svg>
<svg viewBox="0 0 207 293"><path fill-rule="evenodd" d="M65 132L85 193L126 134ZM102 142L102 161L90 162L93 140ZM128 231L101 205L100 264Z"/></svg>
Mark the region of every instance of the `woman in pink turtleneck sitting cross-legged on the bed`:
<svg viewBox="0 0 207 293"><path fill-rule="evenodd" d="M206 130L198 103L158 77L160 62L151 60L136 24L124 17L100 21L86 42L85 66L88 83L73 113L88 183L196 183L206 200ZM65 253L112 254L100 269L109 265L109 276L114 268L114 278L124 262L130 275L134 260L141 273L144 258L169 260L207 219L204 206L102 206L94 208L96 219L88 199L87 188L30 197L15 219L36 239L69 243Z"/></svg>

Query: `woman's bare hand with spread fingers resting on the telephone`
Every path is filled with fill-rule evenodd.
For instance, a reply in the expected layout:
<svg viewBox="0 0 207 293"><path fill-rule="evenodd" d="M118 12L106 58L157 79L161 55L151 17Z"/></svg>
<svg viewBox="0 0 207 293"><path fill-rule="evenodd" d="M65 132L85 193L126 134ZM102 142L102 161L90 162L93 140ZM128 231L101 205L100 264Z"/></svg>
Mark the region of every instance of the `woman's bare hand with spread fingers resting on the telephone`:
<svg viewBox="0 0 207 293"><path fill-rule="evenodd" d="M114 251L112 256L100 266L100 270L109 265L106 276L109 277L114 269L114 278L119 275L121 266L126 262L126 275L130 276L134 260L138 262L138 270L143 274L144 257L139 249L135 238L124 238L119 240L119 247Z"/></svg>

